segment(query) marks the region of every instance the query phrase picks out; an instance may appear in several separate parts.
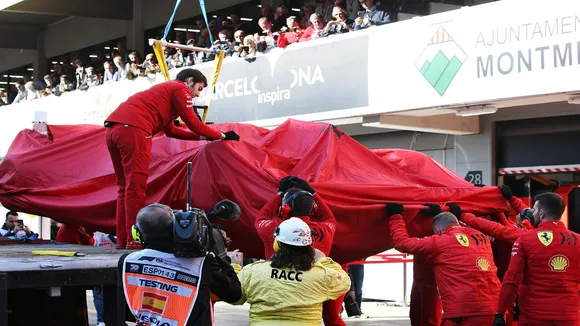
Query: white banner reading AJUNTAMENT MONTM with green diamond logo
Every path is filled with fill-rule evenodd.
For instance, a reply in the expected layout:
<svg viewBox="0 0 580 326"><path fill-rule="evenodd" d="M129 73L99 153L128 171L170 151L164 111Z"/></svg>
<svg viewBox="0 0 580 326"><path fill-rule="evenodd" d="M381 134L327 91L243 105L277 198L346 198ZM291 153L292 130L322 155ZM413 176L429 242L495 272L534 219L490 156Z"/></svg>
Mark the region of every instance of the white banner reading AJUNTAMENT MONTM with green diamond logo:
<svg viewBox="0 0 580 326"><path fill-rule="evenodd" d="M498 1L370 35L364 113L580 90L578 0Z"/></svg>

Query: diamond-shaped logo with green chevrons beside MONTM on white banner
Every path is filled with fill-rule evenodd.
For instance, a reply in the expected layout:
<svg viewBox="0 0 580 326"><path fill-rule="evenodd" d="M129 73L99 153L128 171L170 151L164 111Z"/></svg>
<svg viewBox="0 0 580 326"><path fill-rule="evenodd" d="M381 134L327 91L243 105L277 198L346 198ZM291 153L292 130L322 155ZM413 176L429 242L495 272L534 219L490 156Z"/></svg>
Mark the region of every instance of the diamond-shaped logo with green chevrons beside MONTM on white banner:
<svg viewBox="0 0 580 326"><path fill-rule="evenodd" d="M421 53L415 67L437 93L443 96L465 59L465 52L441 26Z"/></svg>

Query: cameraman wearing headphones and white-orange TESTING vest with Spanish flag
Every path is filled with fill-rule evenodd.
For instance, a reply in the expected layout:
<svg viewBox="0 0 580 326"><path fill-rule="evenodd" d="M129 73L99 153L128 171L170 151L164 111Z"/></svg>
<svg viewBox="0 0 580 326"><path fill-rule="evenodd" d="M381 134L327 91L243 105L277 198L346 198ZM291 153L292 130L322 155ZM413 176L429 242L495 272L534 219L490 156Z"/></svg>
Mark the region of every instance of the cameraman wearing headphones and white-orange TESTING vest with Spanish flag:
<svg viewBox="0 0 580 326"><path fill-rule="evenodd" d="M177 258L168 206L151 204L137 214L144 250L119 260L125 299L137 325L213 325L210 294L236 302L242 296L233 268L214 254Z"/></svg>

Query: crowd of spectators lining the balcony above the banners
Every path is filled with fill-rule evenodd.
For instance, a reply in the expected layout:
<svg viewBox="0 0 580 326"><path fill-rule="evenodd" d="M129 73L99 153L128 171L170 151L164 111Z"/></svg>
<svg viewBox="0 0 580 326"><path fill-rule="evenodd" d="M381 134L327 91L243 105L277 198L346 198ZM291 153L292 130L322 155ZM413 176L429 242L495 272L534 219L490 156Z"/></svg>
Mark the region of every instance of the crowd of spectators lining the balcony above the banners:
<svg viewBox="0 0 580 326"><path fill-rule="evenodd" d="M196 23L200 32L176 32L172 42L223 50L226 57L251 58L292 43L350 33L391 22L391 13L381 9L376 0L356 1L360 4L360 10L356 12L354 19L349 17L346 10L346 0L307 4L296 14L284 4L276 11L272 6L263 5L257 24L242 21L236 13L218 16L209 22L209 26L206 26L204 20L198 20ZM213 44L210 33L215 40ZM171 47L164 47L164 52L169 69L193 66L215 58L213 53ZM118 44L109 55L101 55L99 60L102 64L98 66L85 66L86 63L80 59L74 60L70 65L54 63L52 73L45 75L43 81L33 81L30 76L24 76L23 80L16 82L18 94L12 103L61 96L65 92L87 90L90 87L159 72L159 64L153 53L147 54L143 60L139 52L128 50L124 44ZM7 103L8 97L5 92L0 91L0 106Z"/></svg>

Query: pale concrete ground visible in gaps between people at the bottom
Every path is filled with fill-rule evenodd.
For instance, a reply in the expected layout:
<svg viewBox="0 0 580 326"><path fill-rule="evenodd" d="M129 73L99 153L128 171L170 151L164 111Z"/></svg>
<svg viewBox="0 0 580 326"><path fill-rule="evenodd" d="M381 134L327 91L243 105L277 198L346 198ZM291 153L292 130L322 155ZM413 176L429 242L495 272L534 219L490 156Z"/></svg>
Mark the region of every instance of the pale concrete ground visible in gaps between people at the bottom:
<svg viewBox="0 0 580 326"><path fill-rule="evenodd" d="M97 324L97 316L93 305L93 293L87 291L87 305L89 308L89 325ZM248 325L249 305L232 306L227 303L217 303L215 306L216 326L244 326ZM407 326L409 322L409 309L403 307L388 306L380 302L363 302L362 310L367 318L347 318L343 313L343 318L347 325L365 326ZM134 326L134 323L127 323Z"/></svg>

